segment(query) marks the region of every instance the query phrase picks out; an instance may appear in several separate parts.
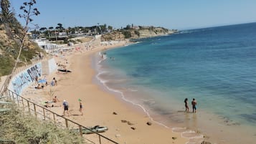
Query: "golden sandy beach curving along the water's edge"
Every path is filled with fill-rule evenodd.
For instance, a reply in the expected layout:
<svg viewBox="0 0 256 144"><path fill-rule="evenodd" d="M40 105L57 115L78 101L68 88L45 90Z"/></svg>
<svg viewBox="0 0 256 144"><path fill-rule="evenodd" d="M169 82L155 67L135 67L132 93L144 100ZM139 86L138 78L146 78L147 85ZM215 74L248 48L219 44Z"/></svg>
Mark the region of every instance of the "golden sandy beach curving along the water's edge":
<svg viewBox="0 0 256 144"><path fill-rule="evenodd" d="M121 100L93 82L95 69L92 68L92 55L103 49L124 45L125 42L119 42L83 52L63 53L63 57L55 57L55 61L65 64L72 72L67 74L54 72L46 75L48 83L55 77L57 86L36 90L32 85L22 95L41 103L57 96L59 102L50 109L60 115L63 114L62 102L66 100L70 105L70 115L66 116L67 118L84 126L107 126L108 130L101 134L118 143L187 143L189 139L181 138L181 133L174 133L171 128L154 123L140 107ZM78 99L82 100L83 115L79 111ZM114 112L116 115L113 114ZM148 122L152 125L147 125Z"/></svg>

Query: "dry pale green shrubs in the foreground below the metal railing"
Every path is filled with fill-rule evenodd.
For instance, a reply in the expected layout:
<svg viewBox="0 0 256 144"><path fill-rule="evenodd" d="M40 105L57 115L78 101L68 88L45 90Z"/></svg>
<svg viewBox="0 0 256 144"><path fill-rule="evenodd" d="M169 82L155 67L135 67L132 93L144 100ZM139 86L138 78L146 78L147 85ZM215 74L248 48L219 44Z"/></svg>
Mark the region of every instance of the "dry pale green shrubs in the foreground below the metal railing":
<svg viewBox="0 0 256 144"><path fill-rule="evenodd" d="M28 114L24 116L15 106L7 112L1 112L0 125L0 143L1 140L24 144L85 143L77 133L57 128L53 123L37 120Z"/></svg>

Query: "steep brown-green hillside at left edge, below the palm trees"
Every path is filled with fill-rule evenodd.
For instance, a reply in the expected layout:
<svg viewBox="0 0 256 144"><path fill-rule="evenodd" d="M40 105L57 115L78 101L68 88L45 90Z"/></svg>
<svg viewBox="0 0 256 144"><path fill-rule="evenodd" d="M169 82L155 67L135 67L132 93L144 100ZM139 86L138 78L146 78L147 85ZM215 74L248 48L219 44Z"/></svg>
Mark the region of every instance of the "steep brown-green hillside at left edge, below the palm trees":
<svg viewBox="0 0 256 144"><path fill-rule="evenodd" d="M9 75L14 67L14 61L19 53L22 44L22 26L18 21L14 23L0 23L0 76ZM19 65L28 64L32 59L42 52L37 44L27 39L24 42Z"/></svg>

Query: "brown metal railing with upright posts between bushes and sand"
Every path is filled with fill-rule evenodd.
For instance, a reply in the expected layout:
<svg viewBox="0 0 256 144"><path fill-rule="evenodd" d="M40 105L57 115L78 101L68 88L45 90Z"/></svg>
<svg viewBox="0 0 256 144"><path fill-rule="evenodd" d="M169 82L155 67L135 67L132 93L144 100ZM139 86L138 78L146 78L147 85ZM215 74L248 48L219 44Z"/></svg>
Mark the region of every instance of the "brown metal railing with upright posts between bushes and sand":
<svg viewBox="0 0 256 144"><path fill-rule="evenodd" d="M7 89L6 92L4 92L4 95L2 96L8 97L10 100L15 102L16 105L18 105L19 107L22 107L23 112L28 112L30 115L34 115L35 117L41 120L49 120L50 122L54 123L54 125L57 125L58 127L64 127L70 130L77 130L77 132L79 132L79 135L81 135L82 137L83 137L82 129L84 129L84 130L91 131L92 132L91 135L98 136L97 141L99 144L102 144L103 142L118 144L114 140L111 140L110 138L107 138L104 135L100 135L100 133L90 130L89 128L86 128L85 126L80 125L79 123L76 123L73 120L69 120L66 117L63 117L62 115L59 115L56 112L53 112L52 110L49 110L47 107L38 105L32 102L31 100L28 100L27 98L22 97L21 95L18 95L15 92L12 92L9 89ZM96 144L95 142L93 142L93 140L90 140L89 138L86 138L86 137L84 138L90 143ZM93 137L90 137L90 138L93 138Z"/></svg>

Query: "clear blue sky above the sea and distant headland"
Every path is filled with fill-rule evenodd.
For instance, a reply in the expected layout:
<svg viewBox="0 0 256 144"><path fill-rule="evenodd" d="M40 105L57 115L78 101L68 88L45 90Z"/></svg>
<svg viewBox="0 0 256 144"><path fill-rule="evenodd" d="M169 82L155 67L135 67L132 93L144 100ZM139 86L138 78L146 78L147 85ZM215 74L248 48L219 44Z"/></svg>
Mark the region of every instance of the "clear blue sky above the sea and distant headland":
<svg viewBox="0 0 256 144"><path fill-rule="evenodd" d="M16 14L28 0L10 0ZM37 0L39 27L127 24L194 29L256 21L256 0ZM23 24L24 20L19 19Z"/></svg>

